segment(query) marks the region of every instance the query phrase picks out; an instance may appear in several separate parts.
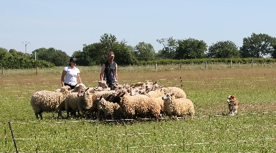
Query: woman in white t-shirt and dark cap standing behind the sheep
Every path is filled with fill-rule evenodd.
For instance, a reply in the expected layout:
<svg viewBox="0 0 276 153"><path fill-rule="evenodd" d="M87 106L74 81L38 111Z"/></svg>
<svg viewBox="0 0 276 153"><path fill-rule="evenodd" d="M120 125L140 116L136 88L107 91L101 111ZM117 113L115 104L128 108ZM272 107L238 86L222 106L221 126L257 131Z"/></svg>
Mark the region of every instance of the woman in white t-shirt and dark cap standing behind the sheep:
<svg viewBox="0 0 276 153"><path fill-rule="evenodd" d="M61 85L69 85L71 89L74 89L77 83L81 83L81 77L79 76L79 69L76 68L77 60L71 58L69 61L69 65L63 68L61 75ZM65 80L64 80L65 76Z"/></svg>

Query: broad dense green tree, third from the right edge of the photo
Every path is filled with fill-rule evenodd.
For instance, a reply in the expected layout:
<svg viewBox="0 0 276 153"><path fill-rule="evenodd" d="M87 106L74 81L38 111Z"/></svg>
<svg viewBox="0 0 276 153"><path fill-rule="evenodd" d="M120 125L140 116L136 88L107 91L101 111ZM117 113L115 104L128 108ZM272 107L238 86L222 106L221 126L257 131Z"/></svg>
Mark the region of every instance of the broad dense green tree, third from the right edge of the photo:
<svg viewBox="0 0 276 153"><path fill-rule="evenodd" d="M207 44L197 39L178 40L174 59L202 59L206 57Z"/></svg>

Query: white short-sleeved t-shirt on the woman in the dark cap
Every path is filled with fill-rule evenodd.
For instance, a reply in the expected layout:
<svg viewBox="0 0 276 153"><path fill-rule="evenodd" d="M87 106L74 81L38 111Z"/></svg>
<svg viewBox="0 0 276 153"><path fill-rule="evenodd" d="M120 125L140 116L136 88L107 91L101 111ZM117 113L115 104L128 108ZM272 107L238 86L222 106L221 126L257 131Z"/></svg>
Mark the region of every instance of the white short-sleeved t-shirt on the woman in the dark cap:
<svg viewBox="0 0 276 153"><path fill-rule="evenodd" d="M78 68L71 68L67 66L63 68L63 71L66 71L65 81L69 85L77 85L77 74L80 72Z"/></svg>

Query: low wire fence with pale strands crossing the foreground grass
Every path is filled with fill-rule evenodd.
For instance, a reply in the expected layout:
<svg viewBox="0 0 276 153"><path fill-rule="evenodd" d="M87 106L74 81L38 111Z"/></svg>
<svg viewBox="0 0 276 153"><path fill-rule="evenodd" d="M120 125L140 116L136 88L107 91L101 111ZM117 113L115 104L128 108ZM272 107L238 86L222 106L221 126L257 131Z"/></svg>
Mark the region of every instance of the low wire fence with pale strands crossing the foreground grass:
<svg viewBox="0 0 276 153"><path fill-rule="evenodd" d="M238 114L236 115L237 117L240 115L255 115L255 114L274 114L276 112L260 112L260 113L246 113L246 114ZM199 119L199 118L206 118L208 117L208 119L212 119L212 117L221 117L224 115L209 115L209 116L195 116L195 119ZM232 116L231 116L232 117ZM233 116L235 117L235 116ZM146 119L148 120L148 119ZM112 120L108 120L108 121L112 121ZM132 120L131 120L132 121ZM32 125L37 125L37 124L56 124L56 123L83 123L83 122L95 122L95 121L88 121L88 120L84 120L84 121L58 121L58 122L52 122L52 123L25 123L25 122L11 122L12 124L32 124ZM6 124L6 123L0 123L1 124ZM16 141L16 140L30 140L30 141L37 141L37 140L54 140L54 139L66 139L66 140L70 140L70 139L90 139L90 138L95 138L98 136L101 137L110 137L110 136L141 136L141 135L153 135L153 134L161 134L161 135L172 135L172 134L186 134L186 133L192 133L193 132L219 132L219 131L233 131L233 130L237 130L237 131L242 131L242 130L248 130L248 129L268 129L269 131L275 131L276 130L276 125L255 125L255 126L250 126L250 127L246 127L246 128L226 128L226 129L222 129L222 130L212 130L211 128L207 128L204 130L177 130L175 132L166 132L166 131L160 131L160 132L137 132L137 133L125 133L125 134L96 134L96 135L90 135L90 136L59 136L59 137L48 137L48 138L37 138L37 136L35 135L34 138L11 138L10 134L8 134L8 129L4 128L4 138L0 138L0 139L5 139L6 143L9 140L12 141ZM257 130L257 131L259 131ZM264 131L263 131L264 132ZM0 134L1 135L1 134ZM135 148L155 148L155 149L160 149L162 147L166 148L166 147L183 147L183 150L185 150L185 148L187 146L193 146L193 145L223 145L223 144L237 144L239 145L239 143L252 143L252 142L270 142L270 141L275 141L276 138L275 136L273 137L266 137L265 132L264 132L264 137L262 138L255 138L255 139L241 139L242 137L239 136L239 134L237 135L237 138L235 139L235 141L205 141L205 142L195 142L195 143L187 143L185 142L185 138L183 138L183 144L163 144L163 145L127 145L126 147L111 147L111 146L102 146L101 145L101 149L106 149L106 150L114 150L114 149L124 149L124 150L129 150L129 149L135 149ZM7 146L7 144L6 144ZM99 147L99 146L97 146ZM6 148L7 150L7 148ZM95 150L95 148L87 148L87 149L74 149L74 148L70 148L71 151L75 151L75 152L83 152L83 151L92 151ZM23 151L23 150L21 150ZM270 150L266 150L266 151L270 151L270 152L275 152L276 148L272 148ZM23 152L30 152L29 151L23 151ZM39 151L39 152L49 152L49 151ZM68 152L68 150L54 150L54 151L50 151L50 152ZM128 152L128 151L127 151Z"/></svg>

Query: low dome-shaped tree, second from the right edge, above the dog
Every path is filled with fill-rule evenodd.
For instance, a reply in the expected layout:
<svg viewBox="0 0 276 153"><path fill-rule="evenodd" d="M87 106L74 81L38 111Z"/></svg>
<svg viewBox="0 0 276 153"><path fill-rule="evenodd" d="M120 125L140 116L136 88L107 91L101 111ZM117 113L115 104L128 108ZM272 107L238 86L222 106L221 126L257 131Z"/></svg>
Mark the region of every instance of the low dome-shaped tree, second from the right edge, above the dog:
<svg viewBox="0 0 276 153"><path fill-rule="evenodd" d="M240 53L237 45L232 41L218 41L210 45L207 53L208 58L239 58Z"/></svg>

